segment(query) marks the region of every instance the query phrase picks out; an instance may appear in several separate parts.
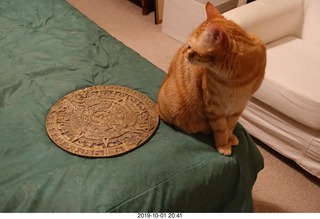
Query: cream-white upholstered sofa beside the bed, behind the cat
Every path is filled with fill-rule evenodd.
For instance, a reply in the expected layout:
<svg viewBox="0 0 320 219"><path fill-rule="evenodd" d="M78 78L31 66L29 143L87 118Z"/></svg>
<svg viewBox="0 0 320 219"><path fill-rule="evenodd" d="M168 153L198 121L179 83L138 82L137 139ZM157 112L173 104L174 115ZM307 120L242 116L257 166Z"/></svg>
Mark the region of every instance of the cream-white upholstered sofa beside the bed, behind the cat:
<svg viewBox="0 0 320 219"><path fill-rule="evenodd" d="M256 0L224 16L267 46L265 79L240 123L320 178L320 0Z"/></svg>

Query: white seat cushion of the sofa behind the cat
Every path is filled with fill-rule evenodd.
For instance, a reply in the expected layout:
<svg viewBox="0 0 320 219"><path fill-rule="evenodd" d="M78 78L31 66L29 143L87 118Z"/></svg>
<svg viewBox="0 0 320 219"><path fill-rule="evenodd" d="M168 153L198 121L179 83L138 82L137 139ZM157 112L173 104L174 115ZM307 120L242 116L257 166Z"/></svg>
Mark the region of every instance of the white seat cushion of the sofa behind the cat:
<svg viewBox="0 0 320 219"><path fill-rule="evenodd" d="M265 79L254 97L320 129L320 46L295 37L267 45Z"/></svg>

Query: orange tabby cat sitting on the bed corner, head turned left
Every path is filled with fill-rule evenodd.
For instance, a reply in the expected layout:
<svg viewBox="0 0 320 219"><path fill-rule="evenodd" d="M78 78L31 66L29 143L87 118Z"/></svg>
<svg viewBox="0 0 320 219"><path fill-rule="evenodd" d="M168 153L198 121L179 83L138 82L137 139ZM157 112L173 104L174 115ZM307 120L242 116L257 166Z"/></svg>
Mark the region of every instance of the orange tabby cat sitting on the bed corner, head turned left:
<svg viewBox="0 0 320 219"><path fill-rule="evenodd" d="M256 36L224 18L210 3L207 20L173 57L157 110L187 133L212 133L219 153L230 155L239 116L264 78L266 49Z"/></svg>

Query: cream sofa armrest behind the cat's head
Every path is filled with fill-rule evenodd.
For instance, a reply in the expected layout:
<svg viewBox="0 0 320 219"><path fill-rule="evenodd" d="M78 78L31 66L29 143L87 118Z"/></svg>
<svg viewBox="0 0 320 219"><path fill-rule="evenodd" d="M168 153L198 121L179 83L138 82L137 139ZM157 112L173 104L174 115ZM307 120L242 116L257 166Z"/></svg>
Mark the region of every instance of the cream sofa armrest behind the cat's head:
<svg viewBox="0 0 320 219"><path fill-rule="evenodd" d="M268 44L285 36L301 38L303 5L303 0L256 0L223 15Z"/></svg>

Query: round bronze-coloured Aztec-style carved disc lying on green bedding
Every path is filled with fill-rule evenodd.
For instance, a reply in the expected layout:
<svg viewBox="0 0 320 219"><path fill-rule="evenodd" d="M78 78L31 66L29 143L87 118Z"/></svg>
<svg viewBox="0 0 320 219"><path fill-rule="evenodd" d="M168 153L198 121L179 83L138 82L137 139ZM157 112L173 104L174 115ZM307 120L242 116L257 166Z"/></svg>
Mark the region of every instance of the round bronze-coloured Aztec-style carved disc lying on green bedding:
<svg viewBox="0 0 320 219"><path fill-rule="evenodd" d="M156 131L159 116L144 94L121 86L93 86L74 91L52 106L46 121L51 140L86 157L128 152Z"/></svg>

